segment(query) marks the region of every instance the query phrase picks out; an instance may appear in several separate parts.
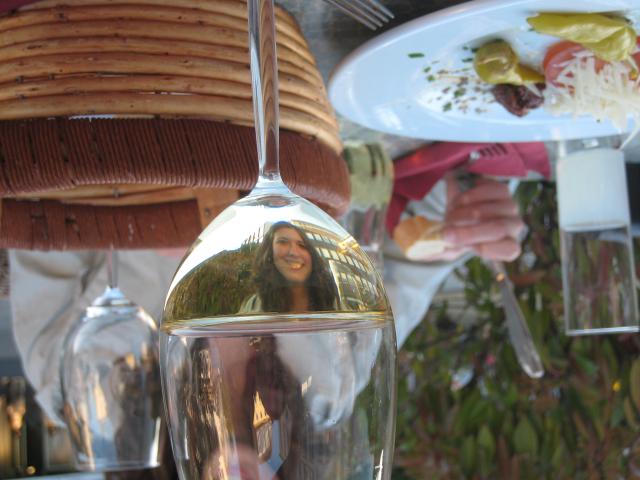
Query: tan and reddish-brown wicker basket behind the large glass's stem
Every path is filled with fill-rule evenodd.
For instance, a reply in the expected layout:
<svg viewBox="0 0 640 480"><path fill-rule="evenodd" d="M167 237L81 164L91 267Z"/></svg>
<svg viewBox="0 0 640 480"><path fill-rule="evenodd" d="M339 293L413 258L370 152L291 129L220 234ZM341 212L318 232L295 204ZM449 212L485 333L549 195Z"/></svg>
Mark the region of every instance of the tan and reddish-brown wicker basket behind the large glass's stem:
<svg viewBox="0 0 640 480"><path fill-rule="evenodd" d="M342 213L338 125L276 10L281 169ZM257 177L246 3L45 0L0 16L0 247L189 245Z"/></svg>

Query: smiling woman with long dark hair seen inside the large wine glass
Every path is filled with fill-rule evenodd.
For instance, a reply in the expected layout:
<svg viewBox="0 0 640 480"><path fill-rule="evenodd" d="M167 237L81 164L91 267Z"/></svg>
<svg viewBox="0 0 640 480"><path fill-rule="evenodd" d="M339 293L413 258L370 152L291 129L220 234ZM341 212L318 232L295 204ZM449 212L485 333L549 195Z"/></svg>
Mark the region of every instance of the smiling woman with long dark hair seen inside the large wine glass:
<svg viewBox="0 0 640 480"><path fill-rule="evenodd" d="M331 272L305 232L288 222L274 223L254 264L257 294L243 312L335 310L337 289Z"/></svg>

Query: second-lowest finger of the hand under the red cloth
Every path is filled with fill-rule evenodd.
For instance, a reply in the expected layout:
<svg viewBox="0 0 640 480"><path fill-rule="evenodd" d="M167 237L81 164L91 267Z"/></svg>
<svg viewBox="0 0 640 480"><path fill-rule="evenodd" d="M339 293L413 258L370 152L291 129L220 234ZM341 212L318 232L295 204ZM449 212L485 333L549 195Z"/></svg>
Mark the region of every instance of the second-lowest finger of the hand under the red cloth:
<svg viewBox="0 0 640 480"><path fill-rule="evenodd" d="M499 218L487 220L474 225L447 225L442 234L444 240L451 245L473 246L488 243L503 238L519 238L524 230L524 223L520 218Z"/></svg>

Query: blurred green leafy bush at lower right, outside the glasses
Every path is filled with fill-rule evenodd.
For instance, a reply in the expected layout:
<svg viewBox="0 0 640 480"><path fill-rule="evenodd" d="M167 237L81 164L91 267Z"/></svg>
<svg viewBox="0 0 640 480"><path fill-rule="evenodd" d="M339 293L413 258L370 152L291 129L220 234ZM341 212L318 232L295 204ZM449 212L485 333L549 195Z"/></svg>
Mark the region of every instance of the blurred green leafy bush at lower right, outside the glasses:
<svg viewBox="0 0 640 480"><path fill-rule="evenodd" d="M394 478L635 478L638 336L564 335L555 189L523 183L517 199L530 230L507 267L546 374L521 370L492 275L468 262L475 322L460 326L433 305L399 352ZM471 381L452 388L464 368Z"/></svg>

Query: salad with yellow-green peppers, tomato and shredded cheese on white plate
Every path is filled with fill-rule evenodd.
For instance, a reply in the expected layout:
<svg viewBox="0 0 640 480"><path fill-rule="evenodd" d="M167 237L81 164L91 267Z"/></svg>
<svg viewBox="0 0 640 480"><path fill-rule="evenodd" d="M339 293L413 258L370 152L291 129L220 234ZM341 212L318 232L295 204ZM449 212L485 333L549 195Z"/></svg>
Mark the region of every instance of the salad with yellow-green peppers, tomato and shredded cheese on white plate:
<svg viewBox="0 0 640 480"><path fill-rule="evenodd" d="M540 13L527 19L536 32L558 37L538 71L520 63L504 40L480 46L474 70L494 85L495 100L523 116L543 107L551 114L609 119L621 130L640 116L640 53L630 22L609 14Z"/></svg>

